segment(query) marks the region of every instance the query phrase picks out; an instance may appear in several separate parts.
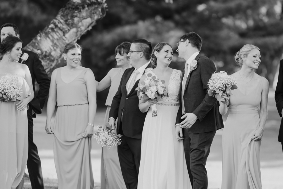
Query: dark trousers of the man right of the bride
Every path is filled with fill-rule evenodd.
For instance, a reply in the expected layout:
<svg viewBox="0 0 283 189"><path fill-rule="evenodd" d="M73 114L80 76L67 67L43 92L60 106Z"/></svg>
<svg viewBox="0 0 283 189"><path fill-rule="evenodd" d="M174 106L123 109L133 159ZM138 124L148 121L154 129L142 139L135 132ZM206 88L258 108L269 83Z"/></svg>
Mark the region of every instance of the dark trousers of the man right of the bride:
<svg viewBox="0 0 283 189"><path fill-rule="evenodd" d="M183 144L187 169L193 189L207 189L208 179L205 164L216 131L192 133L183 129Z"/></svg>

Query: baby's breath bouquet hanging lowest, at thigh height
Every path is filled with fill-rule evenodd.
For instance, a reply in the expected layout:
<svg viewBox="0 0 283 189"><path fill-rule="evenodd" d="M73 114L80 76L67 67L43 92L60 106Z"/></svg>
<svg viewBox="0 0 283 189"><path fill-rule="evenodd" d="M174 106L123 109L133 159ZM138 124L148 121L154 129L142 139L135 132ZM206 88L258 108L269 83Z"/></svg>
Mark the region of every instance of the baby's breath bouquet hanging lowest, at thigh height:
<svg viewBox="0 0 283 189"><path fill-rule="evenodd" d="M98 131L95 132L94 138L96 139L96 142L100 144L101 146L107 146L109 149L112 146L117 146L121 144L121 139L120 137L122 135L117 135L114 133L114 130L110 130L110 125L107 123L106 129L104 129L102 126L98 127Z"/></svg>

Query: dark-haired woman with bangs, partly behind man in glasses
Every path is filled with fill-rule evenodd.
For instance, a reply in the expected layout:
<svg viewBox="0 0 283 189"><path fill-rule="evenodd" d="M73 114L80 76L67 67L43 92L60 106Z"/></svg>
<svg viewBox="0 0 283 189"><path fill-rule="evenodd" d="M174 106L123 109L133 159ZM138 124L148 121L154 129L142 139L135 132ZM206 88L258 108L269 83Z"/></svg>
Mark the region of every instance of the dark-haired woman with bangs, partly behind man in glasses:
<svg viewBox="0 0 283 189"><path fill-rule="evenodd" d="M107 109L103 122L104 126L106 123L108 123L112 99L118 90L122 75L124 74L124 71L126 69L131 68L129 58L127 57L130 46L130 42L123 42L116 47L115 58L117 61L117 66L119 66L119 68L112 68L100 82L97 82L97 92L103 91L110 86L105 103ZM126 188L119 163L117 146L111 147L109 150L107 149L107 147L102 147L101 154L101 189L112 188Z"/></svg>

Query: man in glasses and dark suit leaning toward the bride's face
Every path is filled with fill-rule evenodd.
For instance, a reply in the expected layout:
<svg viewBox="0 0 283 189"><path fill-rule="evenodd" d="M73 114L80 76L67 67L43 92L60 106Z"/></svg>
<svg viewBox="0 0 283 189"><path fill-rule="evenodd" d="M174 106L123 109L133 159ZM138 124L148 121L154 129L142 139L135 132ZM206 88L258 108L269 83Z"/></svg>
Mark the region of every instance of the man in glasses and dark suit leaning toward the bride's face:
<svg viewBox="0 0 283 189"><path fill-rule="evenodd" d="M183 140L187 169L193 189L207 189L206 160L216 130L223 128L219 102L207 94L208 81L216 71L212 60L199 54L202 39L194 32L177 42L179 58L186 60L181 76L180 108L176 137Z"/></svg>

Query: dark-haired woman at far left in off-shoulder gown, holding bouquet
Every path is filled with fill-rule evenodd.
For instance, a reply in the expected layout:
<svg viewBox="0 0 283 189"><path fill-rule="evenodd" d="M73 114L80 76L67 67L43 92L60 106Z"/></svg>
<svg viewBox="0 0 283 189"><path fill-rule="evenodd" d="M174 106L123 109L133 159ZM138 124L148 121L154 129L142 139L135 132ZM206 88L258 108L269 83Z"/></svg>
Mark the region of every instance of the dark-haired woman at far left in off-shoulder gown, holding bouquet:
<svg viewBox="0 0 283 189"><path fill-rule="evenodd" d="M0 188L24 187L28 159L28 103L34 97L29 68L20 64L22 41L3 39L0 52Z"/></svg>

